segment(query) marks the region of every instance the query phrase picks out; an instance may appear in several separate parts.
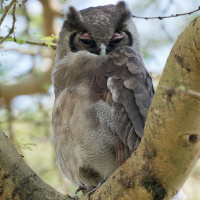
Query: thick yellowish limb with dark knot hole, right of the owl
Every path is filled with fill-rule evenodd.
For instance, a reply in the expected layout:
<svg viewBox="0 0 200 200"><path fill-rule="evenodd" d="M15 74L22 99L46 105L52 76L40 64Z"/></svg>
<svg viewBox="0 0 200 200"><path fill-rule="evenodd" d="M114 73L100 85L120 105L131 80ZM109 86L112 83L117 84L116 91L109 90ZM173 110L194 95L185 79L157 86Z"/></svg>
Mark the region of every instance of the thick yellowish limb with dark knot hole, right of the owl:
<svg viewBox="0 0 200 200"><path fill-rule="evenodd" d="M198 94L199 80L200 17L170 53L136 153L90 199L168 200L180 190L200 156L200 98L163 86Z"/></svg>

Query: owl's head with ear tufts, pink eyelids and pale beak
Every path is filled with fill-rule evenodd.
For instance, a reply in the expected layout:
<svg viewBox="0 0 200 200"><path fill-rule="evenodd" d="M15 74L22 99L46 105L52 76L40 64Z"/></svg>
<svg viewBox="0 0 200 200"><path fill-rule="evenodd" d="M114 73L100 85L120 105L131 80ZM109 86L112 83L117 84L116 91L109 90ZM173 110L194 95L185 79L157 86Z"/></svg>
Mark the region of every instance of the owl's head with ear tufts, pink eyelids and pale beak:
<svg viewBox="0 0 200 200"><path fill-rule="evenodd" d="M60 32L56 59L83 50L105 55L122 45L141 54L138 32L124 1L80 11L70 7Z"/></svg>

